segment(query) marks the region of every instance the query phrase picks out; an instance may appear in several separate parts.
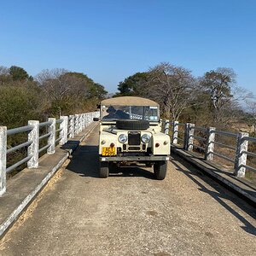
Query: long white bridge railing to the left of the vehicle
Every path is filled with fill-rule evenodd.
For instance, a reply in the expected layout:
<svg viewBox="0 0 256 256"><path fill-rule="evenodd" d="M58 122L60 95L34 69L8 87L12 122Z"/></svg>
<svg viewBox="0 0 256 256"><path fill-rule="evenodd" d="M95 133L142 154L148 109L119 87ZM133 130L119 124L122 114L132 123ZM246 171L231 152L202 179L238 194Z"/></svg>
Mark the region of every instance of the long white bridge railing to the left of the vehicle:
<svg viewBox="0 0 256 256"><path fill-rule="evenodd" d="M18 166L27 163L28 168L38 168L39 154L55 154L55 146L67 143L68 138L73 138L85 127L90 125L93 118L98 118L99 112L80 113L69 116L61 116L60 119L49 118L47 122L39 123L38 120L30 120L26 126L7 130L6 126L0 126L0 196L6 191L6 174L12 172ZM47 132L42 133L42 128ZM7 148L8 137L18 133L27 132L27 141L13 148ZM40 148L40 142L46 140L44 147ZM6 166L7 155L20 148L27 148L27 155L12 166Z"/></svg>

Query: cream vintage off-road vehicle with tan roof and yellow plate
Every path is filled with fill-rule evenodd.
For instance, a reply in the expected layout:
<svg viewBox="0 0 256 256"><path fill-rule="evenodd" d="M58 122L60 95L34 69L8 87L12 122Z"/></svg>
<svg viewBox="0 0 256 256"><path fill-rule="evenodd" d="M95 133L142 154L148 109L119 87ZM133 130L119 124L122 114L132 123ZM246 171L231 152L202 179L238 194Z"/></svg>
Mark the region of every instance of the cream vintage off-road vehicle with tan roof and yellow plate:
<svg viewBox="0 0 256 256"><path fill-rule="evenodd" d="M154 166L155 178L162 180L169 154L170 137L161 132L157 102L135 96L101 102L100 177L122 166Z"/></svg>

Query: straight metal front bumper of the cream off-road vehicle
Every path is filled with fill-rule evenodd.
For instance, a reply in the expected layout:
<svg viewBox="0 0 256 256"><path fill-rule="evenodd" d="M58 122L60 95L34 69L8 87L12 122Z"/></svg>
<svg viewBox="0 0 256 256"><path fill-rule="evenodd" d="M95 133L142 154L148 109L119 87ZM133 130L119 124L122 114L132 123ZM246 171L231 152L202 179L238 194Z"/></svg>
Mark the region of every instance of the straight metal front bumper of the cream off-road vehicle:
<svg viewBox="0 0 256 256"><path fill-rule="evenodd" d="M111 162L111 161L167 161L170 160L169 155L150 155L150 156L100 156L101 162Z"/></svg>

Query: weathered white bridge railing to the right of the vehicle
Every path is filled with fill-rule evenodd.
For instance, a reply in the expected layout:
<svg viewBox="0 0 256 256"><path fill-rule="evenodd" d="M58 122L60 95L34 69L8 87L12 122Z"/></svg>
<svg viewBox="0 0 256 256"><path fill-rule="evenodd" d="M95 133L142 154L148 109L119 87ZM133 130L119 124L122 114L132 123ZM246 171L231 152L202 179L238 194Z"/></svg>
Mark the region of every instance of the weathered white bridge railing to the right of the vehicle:
<svg viewBox="0 0 256 256"><path fill-rule="evenodd" d="M213 160L214 155L216 155L233 163L236 177L245 177L247 170L256 172L253 166L247 165L247 155L253 158L256 157L255 153L248 151L248 143L256 143L256 138L249 137L247 132L217 131L215 127L198 127L195 124L182 124L177 121L169 122L169 120L163 120L163 127L166 134L169 134L171 128L173 145L182 145L183 149L189 151L193 151L196 148L204 154L205 160ZM199 133L199 135L195 135L195 133ZM216 136L233 138L236 143L231 146L230 144L216 141ZM230 150L230 154L234 157L230 157L230 154L218 153L214 149L215 145Z"/></svg>

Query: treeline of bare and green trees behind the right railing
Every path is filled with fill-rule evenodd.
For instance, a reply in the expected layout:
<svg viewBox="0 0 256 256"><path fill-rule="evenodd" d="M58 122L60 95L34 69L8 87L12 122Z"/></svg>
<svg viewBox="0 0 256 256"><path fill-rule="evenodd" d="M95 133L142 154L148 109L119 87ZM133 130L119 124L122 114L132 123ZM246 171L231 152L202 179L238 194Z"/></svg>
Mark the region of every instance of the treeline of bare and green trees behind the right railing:
<svg viewBox="0 0 256 256"><path fill-rule="evenodd" d="M119 83L118 90L115 96L143 96L159 102L166 119L220 129L241 119L253 120L241 108L251 95L237 86L231 68L219 67L195 77L187 68L165 62L131 75Z"/></svg>

